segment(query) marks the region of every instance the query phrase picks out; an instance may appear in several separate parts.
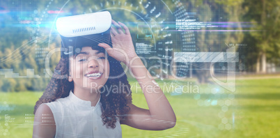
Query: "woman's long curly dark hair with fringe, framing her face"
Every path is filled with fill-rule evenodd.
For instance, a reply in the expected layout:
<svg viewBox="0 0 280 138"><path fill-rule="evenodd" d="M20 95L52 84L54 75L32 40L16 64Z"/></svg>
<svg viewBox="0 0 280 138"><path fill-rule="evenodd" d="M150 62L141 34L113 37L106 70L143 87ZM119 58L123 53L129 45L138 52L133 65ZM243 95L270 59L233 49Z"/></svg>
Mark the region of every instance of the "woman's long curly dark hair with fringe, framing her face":
<svg viewBox="0 0 280 138"><path fill-rule="evenodd" d="M61 38L63 40L63 37ZM98 36L95 35L92 38L98 38ZM77 40L77 42L75 43L79 45L75 47L82 48L85 46L91 46L92 49L96 49L100 52L105 53L104 48L97 46L97 44L100 43L98 42L98 40L88 39L86 37L78 39L79 40ZM77 50L73 51L72 56L77 55L75 51ZM116 59L112 58L111 56L108 56L108 61L110 68L109 79L107 80L106 84L104 84L104 86L100 89L100 91L102 91L102 93L100 93L100 102L102 103L101 117L104 125L107 125L111 128L116 128L117 119L123 119L123 115L130 110L130 107L128 107L127 104L132 103L132 95L130 84L127 81L127 76L125 75L120 62L116 61ZM65 98L70 94L71 90L73 91L74 83L69 82L67 79L69 75L69 56L61 56L61 59L57 64L55 70L59 70L60 73L54 72L54 75L52 76L52 79L47 85L44 93L42 93L42 96L36 102L33 114L36 113L36 110L42 103L53 102L56 99ZM118 93L112 92L113 89L104 89L108 88L109 86L117 86L119 90Z"/></svg>

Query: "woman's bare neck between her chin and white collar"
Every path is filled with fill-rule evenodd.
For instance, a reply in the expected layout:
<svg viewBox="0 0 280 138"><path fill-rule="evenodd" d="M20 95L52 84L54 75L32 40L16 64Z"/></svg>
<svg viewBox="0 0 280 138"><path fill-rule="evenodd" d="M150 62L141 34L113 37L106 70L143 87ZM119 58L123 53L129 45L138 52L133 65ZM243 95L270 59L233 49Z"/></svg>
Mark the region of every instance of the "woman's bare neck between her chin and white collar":
<svg viewBox="0 0 280 138"><path fill-rule="evenodd" d="M79 88L77 86L74 86L73 93L77 96L77 98L80 98L81 100L91 101L92 107L98 103L98 100L100 98L100 93L98 93L97 91L91 91L91 89Z"/></svg>

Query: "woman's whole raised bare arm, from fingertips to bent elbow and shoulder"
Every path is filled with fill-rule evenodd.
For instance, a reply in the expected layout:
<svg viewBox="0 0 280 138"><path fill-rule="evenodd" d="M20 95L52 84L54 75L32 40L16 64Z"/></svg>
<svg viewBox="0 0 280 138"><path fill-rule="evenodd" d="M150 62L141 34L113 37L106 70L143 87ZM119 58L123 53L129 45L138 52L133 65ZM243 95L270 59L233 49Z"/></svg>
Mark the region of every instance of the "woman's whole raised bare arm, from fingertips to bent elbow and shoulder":
<svg viewBox="0 0 280 138"><path fill-rule="evenodd" d="M149 108L141 109L135 105L129 105L130 112L121 123L143 130L173 128L176 124L176 115L162 89L135 53L129 29L123 23L116 23L114 20L112 23L116 26L116 29L111 28L113 48L104 43L99 44L99 46L104 47L110 56L118 61L123 61L130 68L132 75L141 86Z"/></svg>

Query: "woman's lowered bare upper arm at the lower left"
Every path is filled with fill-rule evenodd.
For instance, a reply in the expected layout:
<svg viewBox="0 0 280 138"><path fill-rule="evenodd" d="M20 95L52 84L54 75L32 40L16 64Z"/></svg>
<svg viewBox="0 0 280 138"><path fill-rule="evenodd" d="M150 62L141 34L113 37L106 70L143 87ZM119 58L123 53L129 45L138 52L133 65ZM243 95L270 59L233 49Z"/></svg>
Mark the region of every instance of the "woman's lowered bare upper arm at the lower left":
<svg viewBox="0 0 280 138"><path fill-rule="evenodd" d="M45 104L38 107L33 124L33 138L53 138L56 124L52 110Z"/></svg>

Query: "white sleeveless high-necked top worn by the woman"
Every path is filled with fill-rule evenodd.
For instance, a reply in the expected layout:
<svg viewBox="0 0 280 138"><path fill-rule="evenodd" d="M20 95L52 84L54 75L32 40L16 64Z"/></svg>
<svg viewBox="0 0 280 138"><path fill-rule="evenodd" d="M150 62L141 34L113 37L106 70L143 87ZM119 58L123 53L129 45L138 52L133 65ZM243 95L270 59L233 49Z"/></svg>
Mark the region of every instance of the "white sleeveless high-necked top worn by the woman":
<svg viewBox="0 0 280 138"><path fill-rule="evenodd" d="M116 128L103 125L100 99L95 107L91 107L90 101L81 100L70 91L68 97L45 104L54 114L55 138L122 137L119 120Z"/></svg>

